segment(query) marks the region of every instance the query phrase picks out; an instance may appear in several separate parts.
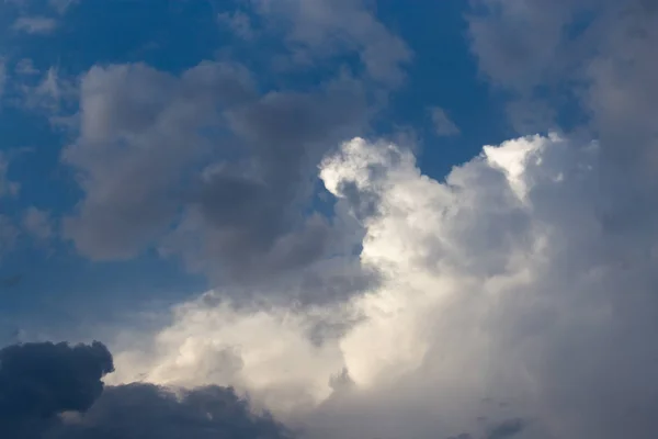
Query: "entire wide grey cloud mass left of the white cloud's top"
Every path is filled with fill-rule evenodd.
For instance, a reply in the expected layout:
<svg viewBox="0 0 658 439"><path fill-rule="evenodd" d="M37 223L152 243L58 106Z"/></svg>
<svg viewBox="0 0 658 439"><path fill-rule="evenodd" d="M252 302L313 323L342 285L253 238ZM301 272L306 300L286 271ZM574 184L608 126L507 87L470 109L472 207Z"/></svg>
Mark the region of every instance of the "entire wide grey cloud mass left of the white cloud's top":
<svg viewBox="0 0 658 439"><path fill-rule="evenodd" d="M333 225L298 207L322 155L365 125L367 103L347 75L259 95L238 65L202 63L181 77L124 65L83 76L80 120L63 161L84 198L64 234L82 255L157 247L213 280L258 281L331 247Z"/></svg>

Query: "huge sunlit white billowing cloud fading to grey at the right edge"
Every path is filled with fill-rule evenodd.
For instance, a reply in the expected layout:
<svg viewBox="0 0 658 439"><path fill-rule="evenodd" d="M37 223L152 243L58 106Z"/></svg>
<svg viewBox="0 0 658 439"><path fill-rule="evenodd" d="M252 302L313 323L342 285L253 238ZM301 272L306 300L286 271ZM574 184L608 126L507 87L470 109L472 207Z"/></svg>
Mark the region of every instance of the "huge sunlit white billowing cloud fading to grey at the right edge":
<svg viewBox="0 0 658 439"><path fill-rule="evenodd" d="M313 308L209 293L123 349L113 380L232 383L311 438L496 437L508 419L520 438L648 439L658 243L605 228L599 154L523 137L440 183L408 150L348 142L320 177L347 210L376 204L361 262L379 284ZM318 325L341 329L311 342ZM332 386L343 368L353 387Z"/></svg>

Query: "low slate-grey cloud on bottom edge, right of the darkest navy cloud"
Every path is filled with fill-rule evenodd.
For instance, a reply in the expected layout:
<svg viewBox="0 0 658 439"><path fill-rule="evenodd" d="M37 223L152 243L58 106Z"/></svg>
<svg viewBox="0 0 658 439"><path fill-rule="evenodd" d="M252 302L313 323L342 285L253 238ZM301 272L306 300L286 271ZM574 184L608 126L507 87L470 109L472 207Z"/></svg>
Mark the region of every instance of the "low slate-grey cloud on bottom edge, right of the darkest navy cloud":
<svg viewBox="0 0 658 439"><path fill-rule="evenodd" d="M83 417L65 420L49 434L57 439L292 437L268 414L252 414L231 389L174 393L150 384L107 387Z"/></svg>

